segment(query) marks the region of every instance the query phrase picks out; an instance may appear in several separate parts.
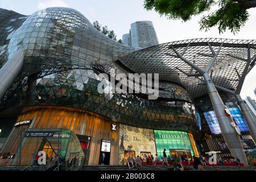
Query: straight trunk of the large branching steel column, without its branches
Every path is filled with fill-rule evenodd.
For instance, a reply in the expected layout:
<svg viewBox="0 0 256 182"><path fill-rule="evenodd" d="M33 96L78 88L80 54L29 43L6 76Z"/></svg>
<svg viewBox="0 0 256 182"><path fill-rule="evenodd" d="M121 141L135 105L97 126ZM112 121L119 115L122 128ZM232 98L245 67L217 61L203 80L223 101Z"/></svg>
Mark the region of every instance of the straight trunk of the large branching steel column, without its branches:
<svg viewBox="0 0 256 182"><path fill-rule="evenodd" d="M223 101L221 100L218 91L216 90L212 80L210 79L208 73L203 74L205 83L207 84L207 89L210 97L210 101L212 102L213 110L215 111L216 117L218 119L218 123L220 125L221 134L224 138L231 154L245 165L247 165L247 159L245 152L243 151L243 146L241 142L241 138L237 135L234 127L230 125L232 118L230 118L227 114L225 114L225 109L228 109Z"/></svg>

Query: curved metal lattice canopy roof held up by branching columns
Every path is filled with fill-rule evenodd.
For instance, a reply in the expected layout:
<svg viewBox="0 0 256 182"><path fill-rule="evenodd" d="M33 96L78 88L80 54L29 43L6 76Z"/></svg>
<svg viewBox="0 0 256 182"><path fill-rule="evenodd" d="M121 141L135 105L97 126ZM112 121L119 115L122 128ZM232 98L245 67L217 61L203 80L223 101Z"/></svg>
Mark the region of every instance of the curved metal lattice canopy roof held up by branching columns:
<svg viewBox="0 0 256 182"><path fill-rule="evenodd" d="M172 48L185 59L204 69L221 45L209 74L214 84L235 90L242 73L244 71L248 73L255 65L256 40L216 38L181 40L140 49L124 56L121 62L139 74L159 73L159 80L177 82L196 98L207 94L203 77L188 76L197 72L181 60ZM249 45L250 60L247 61ZM246 69L248 62L249 69Z"/></svg>

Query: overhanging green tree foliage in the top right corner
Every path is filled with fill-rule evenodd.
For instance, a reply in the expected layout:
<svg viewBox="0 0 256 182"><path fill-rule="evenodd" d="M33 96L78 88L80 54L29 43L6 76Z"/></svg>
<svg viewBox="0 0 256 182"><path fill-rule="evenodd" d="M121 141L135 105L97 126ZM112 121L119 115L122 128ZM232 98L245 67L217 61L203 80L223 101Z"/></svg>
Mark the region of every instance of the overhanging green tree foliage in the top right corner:
<svg viewBox="0 0 256 182"><path fill-rule="evenodd" d="M184 22L216 5L216 11L201 17L200 30L207 31L217 26L220 33L226 29L236 33L249 17L247 10L256 7L256 0L144 0L146 10L155 10L160 15Z"/></svg>

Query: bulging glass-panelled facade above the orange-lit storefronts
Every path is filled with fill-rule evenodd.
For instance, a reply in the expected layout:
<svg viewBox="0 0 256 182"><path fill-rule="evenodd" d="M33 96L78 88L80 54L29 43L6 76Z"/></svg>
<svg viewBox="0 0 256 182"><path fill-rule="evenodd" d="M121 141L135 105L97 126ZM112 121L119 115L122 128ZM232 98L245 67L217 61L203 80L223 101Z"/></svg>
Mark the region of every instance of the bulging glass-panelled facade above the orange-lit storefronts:
<svg viewBox="0 0 256 182"><path fill-rule="evenodd" d="M133 94L97 92L97 75L109 73L110 68L123 72L115 61L134 48L101 34L78 11L53 7L22 18L20 27L7 35L10 54L24 49L24 69L3 97L5 107L71 106L130 125L197 131L194 109L186 104L191 98L177 84L164 84L162 87L167 90L160 93L163 98L179 100L174 103L154 102ZM168 94L170 90L173 92Z"/></svg>

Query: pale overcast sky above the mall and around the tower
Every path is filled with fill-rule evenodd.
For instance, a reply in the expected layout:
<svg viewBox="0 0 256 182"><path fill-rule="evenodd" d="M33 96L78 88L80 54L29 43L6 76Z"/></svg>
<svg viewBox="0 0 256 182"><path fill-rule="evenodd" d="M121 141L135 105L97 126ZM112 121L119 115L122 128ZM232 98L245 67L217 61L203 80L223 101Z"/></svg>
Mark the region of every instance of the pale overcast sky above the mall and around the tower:
<svg viewBox="0 0 256 182"><path fill-rule="evenodd" d="M109 30L114 30L118 39L129 32L131 23L138 20L152 21L159 43L194 38L256 39L256 9L249 10L249 20L241 28L241 31L234 35L229 31L219 34L217 27L211 28L207 32L200 31L201 15L193 16L188 22L167 19L155 11L143 9L143 0L1 0L0 7L23 15L30 15L46 7L72 7L80 11L90 22L98 20L103 26L108 26ZM243 84L242 98L250 96L256 100L255 78L256 68L253 68Z"/></svg>

